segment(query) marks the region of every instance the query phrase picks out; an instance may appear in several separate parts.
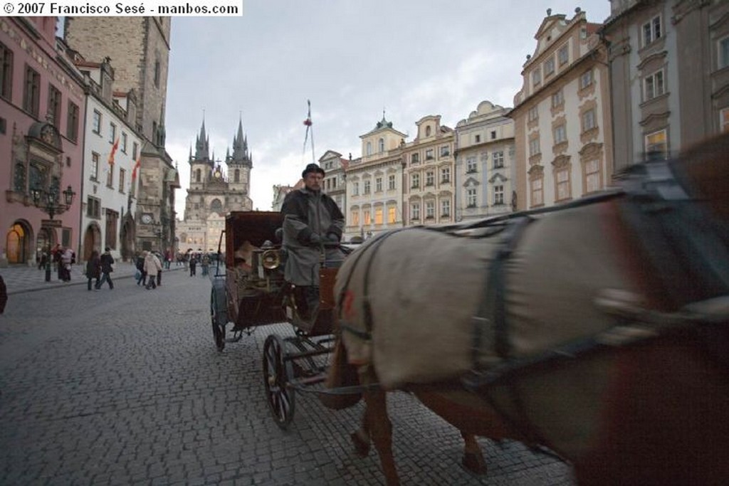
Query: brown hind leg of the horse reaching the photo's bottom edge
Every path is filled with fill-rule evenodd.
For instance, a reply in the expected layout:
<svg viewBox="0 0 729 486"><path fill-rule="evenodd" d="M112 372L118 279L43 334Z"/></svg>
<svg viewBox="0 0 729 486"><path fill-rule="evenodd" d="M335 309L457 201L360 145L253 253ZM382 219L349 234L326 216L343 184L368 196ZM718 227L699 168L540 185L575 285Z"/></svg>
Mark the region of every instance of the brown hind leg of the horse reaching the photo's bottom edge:
<svg viewBox="0 0 729 486"><path fill-rule="evenodd" d="M380 456L380 463L387 486L399 486L400 480L395 469L395 460L392 455L392 423L387 415L387 401L385 391L381 388L369 388L367 385L377 383L377 376L371 367L364 367L359 371L359 383L364 385L364 424L363 428L369 432L375 449Z"/></svg>

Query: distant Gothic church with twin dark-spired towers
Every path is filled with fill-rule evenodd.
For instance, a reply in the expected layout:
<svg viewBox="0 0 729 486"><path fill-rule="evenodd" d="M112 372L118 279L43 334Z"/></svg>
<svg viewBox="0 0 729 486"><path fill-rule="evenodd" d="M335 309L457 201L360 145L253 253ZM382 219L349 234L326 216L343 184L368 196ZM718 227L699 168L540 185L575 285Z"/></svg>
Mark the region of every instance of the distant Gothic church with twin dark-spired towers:
<svg viewBox="0 0 729 486"><path fill-rule="evenodd" d="M177 251L216 251L225 215L230 211L252 211L250 197L252 154L243 134L243 122L233 137L233 153L225 154L224 169L210 152L205 122L195 140L195 154L190 148L190 189L185 198L184 220L177 223ZM222 242L225 248L225 242Z"/></svg>

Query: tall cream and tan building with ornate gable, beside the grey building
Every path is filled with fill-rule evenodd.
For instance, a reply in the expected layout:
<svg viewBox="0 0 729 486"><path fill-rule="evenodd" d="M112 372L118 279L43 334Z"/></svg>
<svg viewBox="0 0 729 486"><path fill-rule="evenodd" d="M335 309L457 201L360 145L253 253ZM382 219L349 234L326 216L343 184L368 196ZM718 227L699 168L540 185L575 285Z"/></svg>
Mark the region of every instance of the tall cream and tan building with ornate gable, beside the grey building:
<svg viewBox="0 0 729 486"><path fill-rule="evenodd" d="M514 97L517 208L564 203L612 181L607 53L585 12L547 17Z"/></svg>

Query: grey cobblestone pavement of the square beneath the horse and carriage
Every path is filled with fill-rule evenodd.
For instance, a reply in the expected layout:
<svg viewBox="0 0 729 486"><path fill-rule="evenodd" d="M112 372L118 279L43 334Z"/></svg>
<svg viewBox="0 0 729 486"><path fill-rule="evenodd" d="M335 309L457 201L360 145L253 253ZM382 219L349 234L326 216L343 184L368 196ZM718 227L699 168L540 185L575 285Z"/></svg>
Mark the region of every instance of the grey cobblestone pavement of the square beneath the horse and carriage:
<svg viewBox="0 0 729 486"><path fill-rule="evenodd" d="M169 272L150 291L117 278L113 291L11 295L0 315L0 484L383 485L377 455L358 458L349 442L361 404L332 411L299 393L289 430L273 423L262 347L291 328L261 327L219 353L209 292L207 278ZM490 469L475 477L459 466L456 429L405 393L391 393L389 410L405 485L573 484L553 456L487 439Z"/></svg>

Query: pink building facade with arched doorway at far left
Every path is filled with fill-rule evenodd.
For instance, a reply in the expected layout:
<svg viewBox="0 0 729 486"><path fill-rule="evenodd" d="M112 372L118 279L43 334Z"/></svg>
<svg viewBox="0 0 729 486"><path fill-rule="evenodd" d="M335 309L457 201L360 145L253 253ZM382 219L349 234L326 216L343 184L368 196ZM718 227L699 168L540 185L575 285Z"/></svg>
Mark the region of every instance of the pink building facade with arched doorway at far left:
<svg viewBox="0 0 729 486"><path fill-rule="evenodd" d="M56 21L0 18L0 266L34 264L56 243L79 252L85 94ZM33 189L58 194L52 219Z"/></svg>

